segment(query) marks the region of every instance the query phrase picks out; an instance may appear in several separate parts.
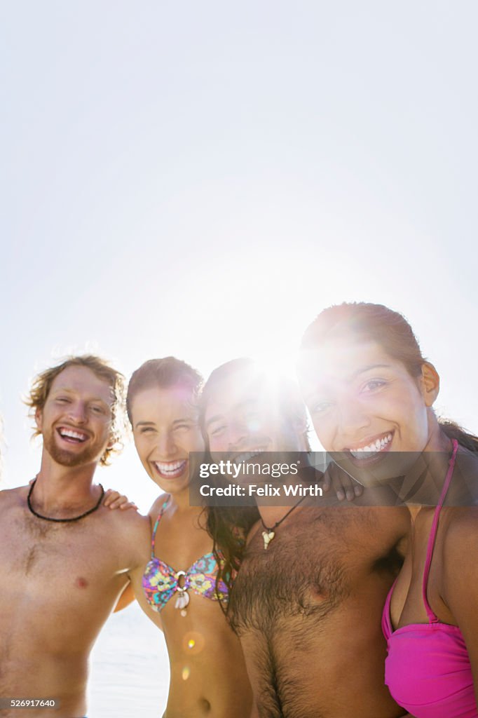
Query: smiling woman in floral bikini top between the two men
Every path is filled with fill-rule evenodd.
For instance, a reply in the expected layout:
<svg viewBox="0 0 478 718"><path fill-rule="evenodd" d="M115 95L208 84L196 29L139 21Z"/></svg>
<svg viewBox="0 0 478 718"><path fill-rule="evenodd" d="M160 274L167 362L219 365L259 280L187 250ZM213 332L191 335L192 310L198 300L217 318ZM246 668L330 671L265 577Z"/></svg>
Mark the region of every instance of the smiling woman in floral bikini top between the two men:
<svg viewBox="0 0 478 718"><path fill-rule="evenodd" d="M127 409L136 450L164 492L149 512L151 559L132 583L167 642L171 675L164 716L249 718L243 653L225 618L243 542L224 513L212 517L213 509L189 505L189 480L200 463L192 465L193 457L205 452L197 424L201 383L193 368L172 357L150 360L131 377ZM222 521L214 545L207 530L212 518L216 526ZM235 518L247 533L256 512L236 511Z"/></svg>

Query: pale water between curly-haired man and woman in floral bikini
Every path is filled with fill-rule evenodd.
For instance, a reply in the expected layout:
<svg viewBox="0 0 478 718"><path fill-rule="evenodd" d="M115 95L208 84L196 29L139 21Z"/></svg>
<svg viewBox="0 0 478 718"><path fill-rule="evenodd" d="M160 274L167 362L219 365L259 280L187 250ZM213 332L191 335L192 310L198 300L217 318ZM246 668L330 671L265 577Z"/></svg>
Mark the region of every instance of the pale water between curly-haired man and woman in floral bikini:
<svg viewBox="0 0 478 718"><path fill-rule="evenodd" d="M161 718L168 690L162 632L136 602L113 613L91 654L88 718Z"/></svg>

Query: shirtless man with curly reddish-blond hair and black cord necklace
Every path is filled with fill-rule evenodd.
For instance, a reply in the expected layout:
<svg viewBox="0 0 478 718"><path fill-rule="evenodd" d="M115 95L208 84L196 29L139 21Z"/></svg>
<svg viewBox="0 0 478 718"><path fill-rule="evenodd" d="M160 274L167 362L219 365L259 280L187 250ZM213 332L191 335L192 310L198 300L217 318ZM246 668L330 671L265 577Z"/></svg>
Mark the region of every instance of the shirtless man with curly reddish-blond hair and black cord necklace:
<svg viewBox="0 0 478 718"><path fill-rule="evenodd" d="M40 470L32 486L0 493L2 718L85 715L90 650L148 559L148 519L105 508L93 484L118 439L122 386L103 360L80 356L40 374L30 393Z"/></svg>

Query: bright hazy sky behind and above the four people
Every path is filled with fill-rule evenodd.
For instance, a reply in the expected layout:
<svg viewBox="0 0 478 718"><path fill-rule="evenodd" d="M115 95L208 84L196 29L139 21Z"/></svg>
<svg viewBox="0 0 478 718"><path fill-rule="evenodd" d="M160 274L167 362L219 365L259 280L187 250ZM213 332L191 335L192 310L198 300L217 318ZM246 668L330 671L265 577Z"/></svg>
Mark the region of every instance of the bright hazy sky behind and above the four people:
<svg viewBox="0 0 478 718"><path fill-rule="evenodd" d="M1 16L4 485L37 472L20 398L65 352L280 362L343 300L406 314L478 431L474 1ZM154 498L131 448L98 475Z"/></svg>

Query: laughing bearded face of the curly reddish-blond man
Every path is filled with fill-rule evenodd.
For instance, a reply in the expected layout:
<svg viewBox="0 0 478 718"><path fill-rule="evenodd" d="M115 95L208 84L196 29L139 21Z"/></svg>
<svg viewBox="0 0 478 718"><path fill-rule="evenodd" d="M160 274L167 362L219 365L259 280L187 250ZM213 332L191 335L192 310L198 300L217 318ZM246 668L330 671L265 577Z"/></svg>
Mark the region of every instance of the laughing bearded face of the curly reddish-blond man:
<svg viewBox="0 0 478 718"><path fill-rule="evenodd" d="M52 382L35 421L44 450L62 466L96 463L111 441L113 391L85 366L72 365Z"/></svg>

